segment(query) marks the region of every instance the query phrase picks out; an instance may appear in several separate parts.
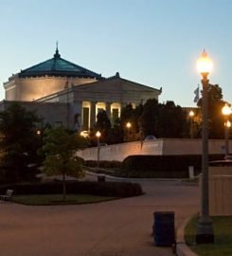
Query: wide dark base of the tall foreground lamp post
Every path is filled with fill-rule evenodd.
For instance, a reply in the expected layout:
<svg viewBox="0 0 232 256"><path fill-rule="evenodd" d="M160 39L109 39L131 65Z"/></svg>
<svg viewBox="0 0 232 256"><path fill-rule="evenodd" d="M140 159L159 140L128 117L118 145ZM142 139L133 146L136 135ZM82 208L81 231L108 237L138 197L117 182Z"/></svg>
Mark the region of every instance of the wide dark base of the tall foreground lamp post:
<svg viewBox="0 0 232 256"><path fill-rule="evenodd" d="M214 243L214 233L212 221L199 221L197 226L197 235L196 235L197 244L213 244Z"/></svg>

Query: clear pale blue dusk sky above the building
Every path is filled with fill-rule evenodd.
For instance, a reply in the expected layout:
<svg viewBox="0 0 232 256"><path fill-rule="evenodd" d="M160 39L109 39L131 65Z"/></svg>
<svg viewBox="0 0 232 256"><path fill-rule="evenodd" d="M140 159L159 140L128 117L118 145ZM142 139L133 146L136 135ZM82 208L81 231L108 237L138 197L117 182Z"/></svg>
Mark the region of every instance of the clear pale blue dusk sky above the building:
<svg viewBox="0 0 232 256"><path fill-rule="evenodd" d="M163 88L160 101L193 102L205 48L211 83L232 101L231 0L0 0L3 82L31 65L62 58L111 77Z"/></svg>

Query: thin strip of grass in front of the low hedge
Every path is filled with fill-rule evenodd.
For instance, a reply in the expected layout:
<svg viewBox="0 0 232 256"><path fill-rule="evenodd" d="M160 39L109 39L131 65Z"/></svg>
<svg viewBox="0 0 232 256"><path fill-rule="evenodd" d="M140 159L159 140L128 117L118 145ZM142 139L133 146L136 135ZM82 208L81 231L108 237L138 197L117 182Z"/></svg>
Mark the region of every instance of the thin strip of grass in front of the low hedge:
<svg viewBox="0 0 232 256"><path fill-rule="evenodd" d="M12 197L14 203L30 206L92 204L113 199L116 197L90 194L67 194L65 201L62 201L62 194L14 195Z"/></svg>

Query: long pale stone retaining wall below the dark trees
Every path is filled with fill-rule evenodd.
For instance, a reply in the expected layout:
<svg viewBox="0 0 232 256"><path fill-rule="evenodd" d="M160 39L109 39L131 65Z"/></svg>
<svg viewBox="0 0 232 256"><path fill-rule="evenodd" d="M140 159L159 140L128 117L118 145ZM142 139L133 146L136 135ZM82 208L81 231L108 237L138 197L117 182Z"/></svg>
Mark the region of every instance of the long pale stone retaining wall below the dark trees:
<svg viewBox="0 0 232 256"><path fill-rule="evenodd" d="M223 154L223 139L209 140L209 154ZM230 141L230 148L232 141ZM96 160L98 148L79 151L85 160ZM187 138L158 138L100 147L100 160L123 161L128 155L201 155L202 140Z"/></svg>

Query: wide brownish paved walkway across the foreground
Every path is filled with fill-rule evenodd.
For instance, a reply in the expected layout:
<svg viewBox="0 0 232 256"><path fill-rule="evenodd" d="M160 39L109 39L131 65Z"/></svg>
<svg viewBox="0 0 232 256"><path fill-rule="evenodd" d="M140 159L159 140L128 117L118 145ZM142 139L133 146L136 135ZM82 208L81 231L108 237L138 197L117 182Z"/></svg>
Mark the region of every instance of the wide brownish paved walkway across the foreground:
<svg viewBox="0 0 232 256"><path fill-rule="evenodd" d="M154 247L152 213L174 210L175 226L198 210L199 192L174 181L141 181L145 195L79 205L0 205L3 256L170 256Z"/></svg>

